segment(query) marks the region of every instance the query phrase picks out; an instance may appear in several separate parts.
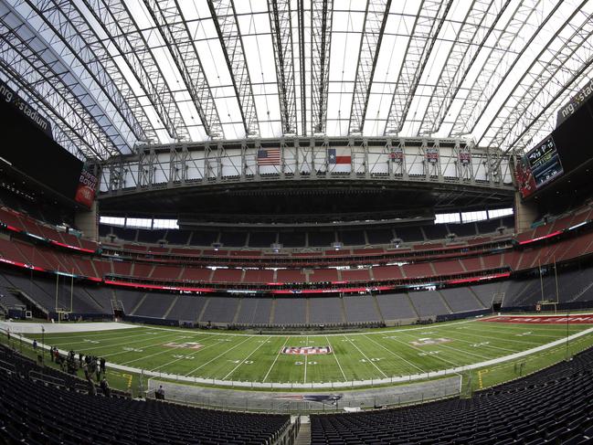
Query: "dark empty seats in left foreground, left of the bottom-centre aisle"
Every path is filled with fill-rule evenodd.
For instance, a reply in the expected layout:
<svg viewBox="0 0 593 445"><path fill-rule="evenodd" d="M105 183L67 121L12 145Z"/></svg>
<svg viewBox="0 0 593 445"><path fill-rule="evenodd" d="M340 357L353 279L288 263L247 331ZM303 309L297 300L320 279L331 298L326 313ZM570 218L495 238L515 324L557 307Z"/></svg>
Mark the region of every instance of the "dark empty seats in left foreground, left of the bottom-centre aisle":
<svg viewBox="0 0 593 445"><path fill-rule="evenodd" d="M7 444L267 444L289 424L281 415L89 397L0 370L0 442Z"/></svg>

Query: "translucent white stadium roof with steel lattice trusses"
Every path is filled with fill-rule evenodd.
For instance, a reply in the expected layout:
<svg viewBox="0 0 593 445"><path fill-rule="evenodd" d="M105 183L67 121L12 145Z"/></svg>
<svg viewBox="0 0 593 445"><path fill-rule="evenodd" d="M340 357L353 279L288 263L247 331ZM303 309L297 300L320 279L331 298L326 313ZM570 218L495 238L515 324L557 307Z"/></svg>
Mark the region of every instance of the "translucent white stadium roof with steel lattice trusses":
<svg viewBox="0 0 593 445"><path fill-rule="evenodd" d="M0 0L0 79L80 158L282 135L525 150L591 78L587 0Z"/></svg>

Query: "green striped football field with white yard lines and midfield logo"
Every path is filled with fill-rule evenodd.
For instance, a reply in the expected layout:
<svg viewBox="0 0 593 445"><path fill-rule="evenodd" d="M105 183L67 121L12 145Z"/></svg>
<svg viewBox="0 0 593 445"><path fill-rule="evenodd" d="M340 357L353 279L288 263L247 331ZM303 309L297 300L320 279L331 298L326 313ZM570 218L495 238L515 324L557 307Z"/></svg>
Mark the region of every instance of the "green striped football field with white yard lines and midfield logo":
<svg viewBox="0 0 593 445"><path fill-rule="evenodd" d="M514 321L515 320L515 321ZM565 319L566 320L566 319ZM495 323L504 322L504 323ZM385 380L491 362L591 329L516 319L436 323L350 334L247 334L140 326L45 334L60 350L163 375L217 381L310 384ZM590 339L584 334L580 340ZM40 334L27 334L41 341ZM539 348L540 350L542 348ZM529 355L526 355L527 357ZM168 377L175 378L175 377Z"/></svg>

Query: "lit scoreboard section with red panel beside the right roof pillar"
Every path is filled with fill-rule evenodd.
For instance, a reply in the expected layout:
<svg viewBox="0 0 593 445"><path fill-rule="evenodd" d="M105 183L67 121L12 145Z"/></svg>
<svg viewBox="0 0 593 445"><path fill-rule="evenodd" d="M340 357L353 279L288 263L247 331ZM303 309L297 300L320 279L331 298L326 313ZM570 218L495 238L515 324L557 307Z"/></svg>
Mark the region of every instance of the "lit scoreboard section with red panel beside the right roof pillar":
<svg viewBox="0 0 593 445"><path fill-rule="evenodd" d="M545 138L529 153L518 158L514 166L514 175L523 197L532 195L563 173L564 169L552 136Z"/></svg>

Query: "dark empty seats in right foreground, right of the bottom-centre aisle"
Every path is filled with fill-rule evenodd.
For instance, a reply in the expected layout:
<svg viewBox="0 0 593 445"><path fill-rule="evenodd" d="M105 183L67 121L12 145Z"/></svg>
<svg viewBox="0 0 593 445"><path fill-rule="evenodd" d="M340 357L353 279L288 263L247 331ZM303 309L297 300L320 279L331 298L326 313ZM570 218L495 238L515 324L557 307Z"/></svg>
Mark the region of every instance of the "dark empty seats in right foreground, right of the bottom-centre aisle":
<svg viewBox="0 0 593 445"><path fill-rule="evenodd" d="M586 444L593 441L593 350L533 376L411 408L312 416L312 444Z"/></svg>

